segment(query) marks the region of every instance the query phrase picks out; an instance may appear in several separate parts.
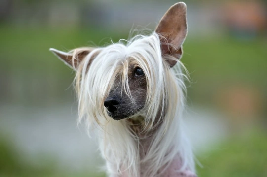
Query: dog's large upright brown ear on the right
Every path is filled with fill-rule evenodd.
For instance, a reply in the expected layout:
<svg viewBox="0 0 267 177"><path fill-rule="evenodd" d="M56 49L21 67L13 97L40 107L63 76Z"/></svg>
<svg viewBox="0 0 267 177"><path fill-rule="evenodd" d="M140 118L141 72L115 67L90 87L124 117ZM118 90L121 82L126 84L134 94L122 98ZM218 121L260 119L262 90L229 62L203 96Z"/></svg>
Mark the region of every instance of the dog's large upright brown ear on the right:
<svg viewBox="0 0 267 177"><path fill-rule="evenodd" d="M174 4L160 20L155 32L160 36L163 56L182 57L182 44L187 35L187 6L184 2ZM170 67L177 61L167 60Z"/></svg>

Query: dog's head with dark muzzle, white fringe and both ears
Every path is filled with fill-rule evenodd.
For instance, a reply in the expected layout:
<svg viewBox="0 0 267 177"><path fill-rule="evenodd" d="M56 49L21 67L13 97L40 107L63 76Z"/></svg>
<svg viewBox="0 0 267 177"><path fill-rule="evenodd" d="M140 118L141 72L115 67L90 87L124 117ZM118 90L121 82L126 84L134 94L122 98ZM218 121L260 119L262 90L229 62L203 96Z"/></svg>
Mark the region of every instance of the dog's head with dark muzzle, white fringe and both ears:
<svg viewBox="0 0 267 177"><path fill-rule="evenodd" d="M68 53L50 49L76 70L76 91L82 116L115 120L137 115L155 118L177 97L171 68L182 56L187 35L186 5L170 7L150 36L137 35L102 48ZM166 102L168 100L168 103ZM165 111L164 111L165 110Z"/></svg>

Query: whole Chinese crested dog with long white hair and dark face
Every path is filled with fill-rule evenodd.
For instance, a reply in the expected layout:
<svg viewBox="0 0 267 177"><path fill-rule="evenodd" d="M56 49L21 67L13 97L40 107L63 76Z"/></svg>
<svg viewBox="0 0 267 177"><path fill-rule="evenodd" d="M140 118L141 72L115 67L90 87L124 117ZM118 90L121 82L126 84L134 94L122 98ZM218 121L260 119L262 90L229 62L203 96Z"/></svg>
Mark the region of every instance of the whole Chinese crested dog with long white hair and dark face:
<svg viewBox="0 0 267 177"><path fill-rule="evenodd" d="M197 177L185 135L186 4L171 6L151 35L69 52L79 121L95 128L109 177Z"/></svg>

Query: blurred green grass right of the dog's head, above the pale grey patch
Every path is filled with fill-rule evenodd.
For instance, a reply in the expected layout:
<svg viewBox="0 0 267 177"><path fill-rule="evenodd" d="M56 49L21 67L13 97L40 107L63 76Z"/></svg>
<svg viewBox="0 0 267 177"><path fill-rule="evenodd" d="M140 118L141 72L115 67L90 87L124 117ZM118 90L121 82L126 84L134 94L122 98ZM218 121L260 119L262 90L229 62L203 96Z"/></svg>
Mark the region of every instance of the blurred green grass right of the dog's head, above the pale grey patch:
<svg viewBox="0 0 267 177"><path fill-rule="evenodd" d="M267 100L266 46L266 38L220 36L186 40L182 61L191 76L190 99L214 106L212 99L218 92L241 84L261 91L261 97Z"/></svg>

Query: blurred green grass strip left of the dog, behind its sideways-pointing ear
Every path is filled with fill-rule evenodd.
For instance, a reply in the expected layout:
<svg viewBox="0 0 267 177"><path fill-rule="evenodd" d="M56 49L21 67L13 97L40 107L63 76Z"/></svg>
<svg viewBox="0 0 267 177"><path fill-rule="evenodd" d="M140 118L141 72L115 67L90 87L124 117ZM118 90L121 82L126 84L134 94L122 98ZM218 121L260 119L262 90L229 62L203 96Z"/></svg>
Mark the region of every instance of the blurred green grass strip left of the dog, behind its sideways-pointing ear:
<svg viewBox="0 0 267 177"><path fill-rule="evenodd" d="M30 29L0 28L0 55L2 69L5 71L23 70L30 74L47 73L54 70L61 74L66 72L62 63L48 51L50 47L68 51L86 45L103 45L110 36L117 41L117 34L96 29ZM91 43L92 42L92 43ZM59 66L59 67L58 67Z"/></svg>

